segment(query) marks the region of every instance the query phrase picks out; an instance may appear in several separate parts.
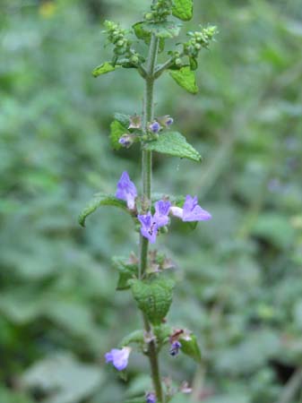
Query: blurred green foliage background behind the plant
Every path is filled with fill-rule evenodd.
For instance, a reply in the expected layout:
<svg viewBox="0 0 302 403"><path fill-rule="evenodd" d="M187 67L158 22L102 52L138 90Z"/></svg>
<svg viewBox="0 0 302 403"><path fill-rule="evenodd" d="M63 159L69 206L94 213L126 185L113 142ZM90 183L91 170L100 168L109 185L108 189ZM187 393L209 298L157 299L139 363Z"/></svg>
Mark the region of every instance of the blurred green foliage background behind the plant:
<svg viewBox="0 0 302 403"><path fill-rule="evenodd" d="M213 216L159 242L177 262L168 320L196 332L204 366L167 349L162 373L204 403L302 402L301 1L194 3L187 30L220 30L200 93L167 74L156 101L203 164L156 156L154 190L198 194ZM127 382L103 359L141 326L110 264L137 249L131 219L102 209L77 224L123 170L139 183L138 150L110 150L108 125L141 112L142 80L91 70L110 55L101 21L127 27L149 4L0 1L1 403L117 403L150 387L141 356Z"/></svg>

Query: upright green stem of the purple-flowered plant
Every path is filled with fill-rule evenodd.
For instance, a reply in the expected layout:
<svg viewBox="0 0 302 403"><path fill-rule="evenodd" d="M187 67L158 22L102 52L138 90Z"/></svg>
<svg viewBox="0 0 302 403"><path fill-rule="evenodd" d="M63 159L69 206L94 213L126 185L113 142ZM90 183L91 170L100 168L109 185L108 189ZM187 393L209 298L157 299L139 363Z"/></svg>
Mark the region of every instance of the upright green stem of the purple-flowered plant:
<svg viewBox="0 0 302 403"><path fill-rule="evenodd" d="M149 48L149 56L146 68L145 77L145 92L143 99L143 129L147 133L148 124L154 118L154 72L157 61L157 55L159 51L159 39L155 35L151 36L151 43ZM151 207L151 178L152 178L152 153L148 150L142 150L142 210L144 213L150 210ZM147 268L148 264L148 239L144 236L140 236L140 272L139 276L142 276ZM151 330L151 324L146 316L143 316L144 328L146 331ZM156 351L156 345L154 341L149 343L148 356L151 365L151 376L156 392L156 397L159 403L163 403L161 382L160 382L160 369L158 361L158 353Z"/></svg>

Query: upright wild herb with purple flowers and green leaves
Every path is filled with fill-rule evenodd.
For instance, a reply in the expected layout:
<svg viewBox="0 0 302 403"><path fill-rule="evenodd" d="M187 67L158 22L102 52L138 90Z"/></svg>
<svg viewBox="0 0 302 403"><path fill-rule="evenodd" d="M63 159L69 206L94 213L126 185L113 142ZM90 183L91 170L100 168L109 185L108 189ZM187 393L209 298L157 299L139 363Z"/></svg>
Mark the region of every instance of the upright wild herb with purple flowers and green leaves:
<svg viewBox="0 0 302 403"><path fill-rule="evenodd" d="M142 311L143 330L134 330L121 341L119 348L113 348L105 356L107 363L113 364L120 372L125 371L133 347L148 357L153 390L146 390L145 396L135 400L137 402L166 403L177 391L190 391L186 383L175 390L169 383L162 382L159 367L162 347L169 346L164 354L169 351L171 356L177 356L181 351L197 363L201 362L194 334L190 330L175 329L166 322L175 286L168 270L173 268L173 263L164 253L150 249L150 244L155 244L158 236L168 233L173 217L192 227L198 221L211 219L211 214L198 205L197 196L151 193L152 152L197 163L202 159L184 135L171 130L174 124L171 116L155 116L154 113L154 84L163 73L169 73L188 92L195 94L198 91L194 73L198 68L198 56L203 48L210 46L216 27L187 32L185 42L177 42L172 49L166 50L168 39L176 39L180 33L182 24L179 20L192 19L193 5L193 0L153 0L150 11L129 30L122 29L116 22L105 21L104 33L113 47L113 57L92 72L98 77L119 67L136 69L145 82L142 116L116 113L110 127L110 141L115 150L129 148L134 142L141 144L142 191L139 193L128 173L123 172L116 194L97 194L79 219L84 226L85 219L100 206L116 206L132 216L134 230L140 232L138 256L131 254L128 259L115 258L114 265L119 271L116 290L132 292ZM136 50L141 48L139 42L148 49L146 55ZM159 56L163 59L160 64Z"/></svg>

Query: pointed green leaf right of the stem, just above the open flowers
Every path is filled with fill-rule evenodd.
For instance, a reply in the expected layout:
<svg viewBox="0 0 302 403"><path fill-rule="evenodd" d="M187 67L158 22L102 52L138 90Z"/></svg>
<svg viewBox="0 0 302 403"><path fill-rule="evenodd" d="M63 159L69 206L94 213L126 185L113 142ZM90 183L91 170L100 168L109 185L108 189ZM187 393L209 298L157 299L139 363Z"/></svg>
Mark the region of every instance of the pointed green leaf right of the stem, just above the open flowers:
<svg viewBox="0 0 302 403"><path fill-rule="evenodd" d="M160 134L158 140L146 143L144 150L157 151L162 154L172 155L181 159L192 159L197 162L202 160L199 152L186 141L186 137L178 132Z"/></svg>

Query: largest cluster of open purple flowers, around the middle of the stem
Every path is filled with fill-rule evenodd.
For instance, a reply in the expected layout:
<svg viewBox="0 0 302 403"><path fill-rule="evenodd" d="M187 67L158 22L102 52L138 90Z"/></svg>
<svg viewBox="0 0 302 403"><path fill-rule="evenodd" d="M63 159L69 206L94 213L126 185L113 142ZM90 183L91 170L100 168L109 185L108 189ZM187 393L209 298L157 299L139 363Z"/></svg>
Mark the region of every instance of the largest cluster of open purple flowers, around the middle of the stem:
<svg viewBox="0 0 302 403"><path fill-rule="evenodd" d="M129 210L135 210L135 199L137 191L135 184L131 181L127 172L123 172L117 183L116 198L124 200ZM169 223L169 215L175 216L183 221L206 221L211 219L211 214L198 205L197 196L186 196L182 208L172 206L168 200L156 201L154 214L148 211L147 214L138 214L137 219L141 223L141 234L151 244L155 244L160 227L166 227Z"/></svg>

